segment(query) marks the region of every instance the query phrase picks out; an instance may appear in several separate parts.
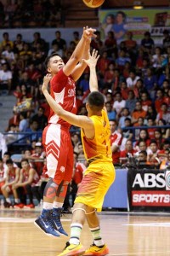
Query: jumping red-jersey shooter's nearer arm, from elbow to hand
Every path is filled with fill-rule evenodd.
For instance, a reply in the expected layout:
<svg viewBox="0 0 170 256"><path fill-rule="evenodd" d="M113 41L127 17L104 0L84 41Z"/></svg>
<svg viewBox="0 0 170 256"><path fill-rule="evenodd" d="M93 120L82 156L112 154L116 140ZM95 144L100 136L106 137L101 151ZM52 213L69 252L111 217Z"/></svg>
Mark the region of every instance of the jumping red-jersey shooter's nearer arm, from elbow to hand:
<svg viewBox="0 0 170 256"><path fill-rule="evenodd" d="M63 72L66 76L69 76L73 72L77 63L82 60L82 55L84 54L86 43L87 41L89 41L89 38L95 37L94 32L95 29L93 28L83 28L82 38L80 39L76 49L72 53L71 58L69 59L69 61L67 61L65 67L63 68Z"/></svg>

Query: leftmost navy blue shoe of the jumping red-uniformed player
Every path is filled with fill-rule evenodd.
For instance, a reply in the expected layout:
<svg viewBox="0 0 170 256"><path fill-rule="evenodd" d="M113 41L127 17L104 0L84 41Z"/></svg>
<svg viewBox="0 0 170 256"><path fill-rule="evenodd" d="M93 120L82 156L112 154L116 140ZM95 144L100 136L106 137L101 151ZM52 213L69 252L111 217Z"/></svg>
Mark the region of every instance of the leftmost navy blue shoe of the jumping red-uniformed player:
<svg viewBox="0 0 170 256"><path fill-rule="evenodd" d="M59 237L59 232L54 230L51 210L42 209L42 214L34 221L34 224L47 236Z"/></svg>

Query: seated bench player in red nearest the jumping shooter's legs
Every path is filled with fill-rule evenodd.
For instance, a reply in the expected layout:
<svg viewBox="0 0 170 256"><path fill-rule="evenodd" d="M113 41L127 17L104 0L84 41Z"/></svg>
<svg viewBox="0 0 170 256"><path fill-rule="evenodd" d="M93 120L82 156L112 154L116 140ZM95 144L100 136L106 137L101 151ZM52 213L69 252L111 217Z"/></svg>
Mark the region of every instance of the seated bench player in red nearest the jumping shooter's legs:
<svg viewBox="0 0 170 256"><path fill-rule="evenodd" d="M14 208L34 208L31 187L39 181L39 176L34 168L29 165L28 160L21 160L20 179L13 184L13 193L18 195L20 203L14 204ZM28 196L29 204L26 203Z"/></svg>

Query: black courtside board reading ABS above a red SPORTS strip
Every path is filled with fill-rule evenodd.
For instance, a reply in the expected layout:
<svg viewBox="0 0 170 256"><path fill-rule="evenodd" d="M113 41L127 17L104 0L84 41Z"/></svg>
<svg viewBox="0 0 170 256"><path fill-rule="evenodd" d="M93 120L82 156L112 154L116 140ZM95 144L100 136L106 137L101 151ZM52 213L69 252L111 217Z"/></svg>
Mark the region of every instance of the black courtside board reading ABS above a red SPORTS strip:
<svg viewBox="0 0 170 256"><path fill-rule="evenodd" d="M170 212L170 171L129 170L127 192L130 211Z"/></svg>

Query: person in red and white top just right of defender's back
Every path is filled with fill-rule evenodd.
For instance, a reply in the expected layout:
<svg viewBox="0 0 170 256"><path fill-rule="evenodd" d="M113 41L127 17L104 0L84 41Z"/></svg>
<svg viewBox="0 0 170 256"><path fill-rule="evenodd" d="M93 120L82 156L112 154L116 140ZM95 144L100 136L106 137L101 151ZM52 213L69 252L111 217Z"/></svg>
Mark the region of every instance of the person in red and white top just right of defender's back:
<svg viewBox="0 0 170 256"><path fill-rule="evenodd" d="M111 127L111 152L112 152L112 160L113 164L119 163L120 158L120 146L122 143L122 134L116 130L117 123L116 120L110 120Z"/></svg>

